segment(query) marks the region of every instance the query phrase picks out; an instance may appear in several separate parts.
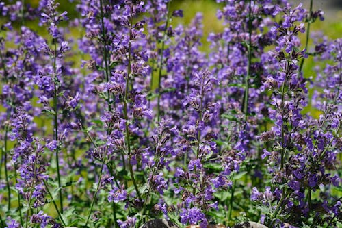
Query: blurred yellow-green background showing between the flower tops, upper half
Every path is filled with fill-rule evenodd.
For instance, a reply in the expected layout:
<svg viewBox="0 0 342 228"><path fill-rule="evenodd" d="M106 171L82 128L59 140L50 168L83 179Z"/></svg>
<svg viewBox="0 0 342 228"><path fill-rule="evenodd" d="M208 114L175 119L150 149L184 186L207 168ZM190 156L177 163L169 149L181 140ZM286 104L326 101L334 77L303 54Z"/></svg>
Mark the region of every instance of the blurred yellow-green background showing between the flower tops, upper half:
<svg viewBox="0 0 342 228"><path fill-rule="evenodd" d="M18 1L18 0L17 0ZM243 0L241 0L243 1ZM298 5L298 3L303 3L305 8L309 8L310 0L290 0L293 5ZM14 3L15 1L7 0L5 3ZM31 4L33 7L38 6L39 0L25 0L25 4ZM69 0L55 0L55 2L60 3L60 7L58 8L60 12L67 11L70 19L78 17L78 13L76 12L76 5L80 2L78 1L69 1ZM207 42L207 35L211 32L220 32L223 31L224 25L222 21L219 21L216 18L216 13L218 8L222 8L224 4L218 4L215 0L172 0L170 8L171 10L183 10L183 18L172 18L171 25L176 27L179 23L183 25L188 25L192 18L198 13L201 12L203 15L203 31L204 36L202 38L202 47L200 47L201 51L209 53L209 43ZM328 36L330 39L342 38L342 0L313 0L313 10L324 10L324 17L326 18L324 21L315 21L311 25L311 34L315 31L321 31L323 34ZM14 24L14 27L17 27ZM25 25L30 27L31 29L38 32L38 34L47 36L47 28L46 27L38 27L37 21L25 21ZM62 23L62 26L68 26L68 23ZM148 31L146 31L148 32ZM84 31L80 27L72 27L68 31L68 39L76 40L77 38L81 38L84 36ZM300 34L300 38L302 39L302 48L304 49L306 34ZM312 42L308 43L308 50L312 49ZM77 46L75 45L74 50L77 51ZM79 67L81 64L81 60L87 60L88 56L82 55L73 55L71 59L75 63L75 67ZM70 59L69 59L70 60ZM305 60L303 72L304 77L315 78L315 72L313 71L314 66L316 66L317 62L313 61L312 57L309 57ZM312 90L311 90L312 91ZM319 112L317 110L313 110L310 106L305 109L305 112L311 112L313 116L318 117Z"/></svg>

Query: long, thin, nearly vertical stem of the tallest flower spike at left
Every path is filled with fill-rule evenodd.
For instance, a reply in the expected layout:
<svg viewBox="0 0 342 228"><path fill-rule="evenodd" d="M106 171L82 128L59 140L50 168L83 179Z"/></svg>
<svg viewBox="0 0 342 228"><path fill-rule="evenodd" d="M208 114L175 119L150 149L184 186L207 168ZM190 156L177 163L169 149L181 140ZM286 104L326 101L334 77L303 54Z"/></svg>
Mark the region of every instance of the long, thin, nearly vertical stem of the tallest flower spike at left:
<svg viewBox="0 0 342 228"><path fill-rule="evenodd" d="M57 178L58 178L58 188L59 190L59 195L60 195L60 207L61 207L61 212L63 214L63 197L62 197L62 185L61 185L61 177L60 177L60 159L58 157L59 149L60 149L60 144L58 142L58 109L57 109L57 68L56 68L56 59L57 59L57 40L53 39L55 42L55 53L54 53L54 58L53 58L53 85L55 87L54 91L54 96L53 96L53 111L55 112L54 114L54 126L55 126L55 140L57 142L57 147L55 149L55 157L56 157L56 166L57 166Z"/></svg>

